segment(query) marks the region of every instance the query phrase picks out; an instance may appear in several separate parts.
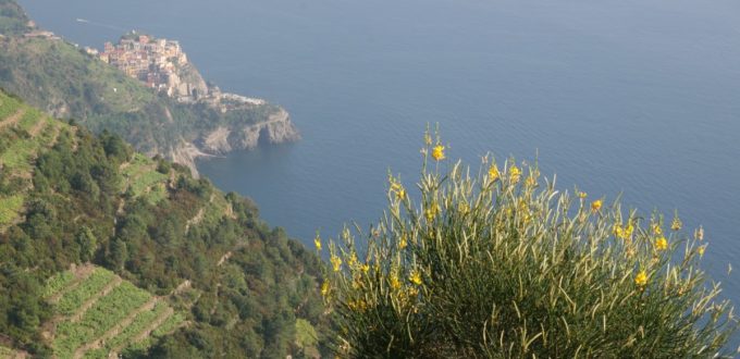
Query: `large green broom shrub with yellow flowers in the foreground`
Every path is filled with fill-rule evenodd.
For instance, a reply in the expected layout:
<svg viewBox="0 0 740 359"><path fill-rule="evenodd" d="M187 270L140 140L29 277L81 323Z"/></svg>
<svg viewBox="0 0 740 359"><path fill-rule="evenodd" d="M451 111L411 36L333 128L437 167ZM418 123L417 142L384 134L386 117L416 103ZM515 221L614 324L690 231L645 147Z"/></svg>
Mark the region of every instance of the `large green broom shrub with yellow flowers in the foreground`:
<svg viewBox="0 0 740 359"><path fill-rule="evenodd" d="M329 246L337 355L729 356L737 321L699 267L701 228L690 238L678 218L560 194L514 160L488 156L470 175L439 136L422 153L418 201L391 175L380 223Z"/></svg>

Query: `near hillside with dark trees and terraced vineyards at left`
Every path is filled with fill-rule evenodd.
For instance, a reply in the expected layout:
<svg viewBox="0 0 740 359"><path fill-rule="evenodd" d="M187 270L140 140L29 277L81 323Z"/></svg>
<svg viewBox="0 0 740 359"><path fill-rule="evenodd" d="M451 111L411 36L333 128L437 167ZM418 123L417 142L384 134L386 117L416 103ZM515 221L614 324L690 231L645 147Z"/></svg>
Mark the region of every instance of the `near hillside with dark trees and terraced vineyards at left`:
<svg viewBox="0 0 740 359"><path fill-rule="evenodd" d="M1 91L0 209L9 349L181 358L321 349L321 262L249 200ZM81 271L92 268L85 263L112 273Z"/></svg>

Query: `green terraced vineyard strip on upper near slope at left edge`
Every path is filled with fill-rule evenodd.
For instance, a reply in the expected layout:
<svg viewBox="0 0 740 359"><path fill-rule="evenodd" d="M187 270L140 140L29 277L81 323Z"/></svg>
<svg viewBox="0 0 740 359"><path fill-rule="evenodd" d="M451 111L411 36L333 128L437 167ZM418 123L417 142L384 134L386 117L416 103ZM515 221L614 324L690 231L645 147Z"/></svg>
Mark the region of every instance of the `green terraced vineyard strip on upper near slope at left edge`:
<svg viewBox="0 0 740 359"><path fill-rule="evenodd" d="M71 127L40 111L22 106L0 92L0 231L16 222L23 212L25 193L32 188L34 159Z"/></svg>

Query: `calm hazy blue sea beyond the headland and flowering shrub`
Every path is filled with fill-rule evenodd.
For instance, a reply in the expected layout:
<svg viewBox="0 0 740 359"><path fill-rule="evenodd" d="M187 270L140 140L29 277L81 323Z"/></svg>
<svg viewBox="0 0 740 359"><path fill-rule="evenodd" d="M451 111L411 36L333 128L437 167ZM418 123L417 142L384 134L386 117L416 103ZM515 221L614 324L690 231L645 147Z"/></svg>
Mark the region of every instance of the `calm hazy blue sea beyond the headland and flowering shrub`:
<svg viewBox="0 0 740 359"><path fill-rule="evenodd" d="M180 39L222 89L287 108L300 143L199 169L306 244L380 218L388 169L417 180L440 123L453 159L539 153L562 189L678 209L740 300L736 0L21 2L81 45L133 28Z"/></svg>

